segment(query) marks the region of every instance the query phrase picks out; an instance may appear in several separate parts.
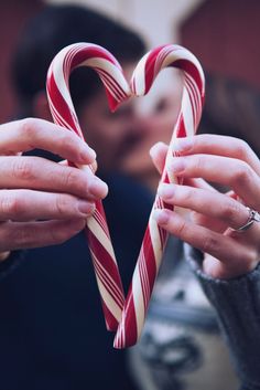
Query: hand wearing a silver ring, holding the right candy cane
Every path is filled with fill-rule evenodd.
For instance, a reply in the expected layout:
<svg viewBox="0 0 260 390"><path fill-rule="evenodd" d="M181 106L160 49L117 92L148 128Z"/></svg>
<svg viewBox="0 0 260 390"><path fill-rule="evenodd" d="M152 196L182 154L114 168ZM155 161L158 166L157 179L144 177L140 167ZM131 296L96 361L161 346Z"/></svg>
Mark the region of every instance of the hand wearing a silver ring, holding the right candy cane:
<svg viewBox="0 0 260 390"><path fill-rule="evenodd" d="M162 144L151 149L159 171L166 150ZM161 185L159 194L166 203L188 209L189 215L186 220L170 210L158 211L158 223L204 252L208 275L230 278L250 272L260 260L260 223L235 230L247 223L247 207L260 211L259 159L246 143L225 136L178 139L174 150L181 157L173 157L171 169L184 186ZM240 201L232 191L220 193L205 180L229 187Z"/></svg>

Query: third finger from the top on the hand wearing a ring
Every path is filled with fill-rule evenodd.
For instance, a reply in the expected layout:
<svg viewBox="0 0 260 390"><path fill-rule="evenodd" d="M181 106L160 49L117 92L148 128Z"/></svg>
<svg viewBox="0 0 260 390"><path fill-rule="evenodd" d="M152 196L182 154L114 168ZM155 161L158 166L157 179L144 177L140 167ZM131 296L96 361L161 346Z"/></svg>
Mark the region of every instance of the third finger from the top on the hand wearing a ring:
<svg viewBox="0 0 260 390"><path fill-rule="evenodd" d="M243 204L217 191L163 183L159 187L158 193L166 203L220 220L226 229L227 226L238 229L246 224L249 218L248 209Z"/></svg>

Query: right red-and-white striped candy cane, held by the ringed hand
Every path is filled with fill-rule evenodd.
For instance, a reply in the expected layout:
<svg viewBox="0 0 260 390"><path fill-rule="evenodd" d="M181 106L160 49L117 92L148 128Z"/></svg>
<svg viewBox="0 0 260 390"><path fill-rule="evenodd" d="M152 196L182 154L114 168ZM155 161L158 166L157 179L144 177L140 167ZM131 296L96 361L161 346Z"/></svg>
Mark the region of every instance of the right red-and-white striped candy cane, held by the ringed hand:
<svg viewBox="0 0 260 390"><path fill-rule="evenodd" d="M163 45L152 50L141 59L133 73L131 87L136 96L145 95L159 72L167 66L177 67L184 72L181 110L173 130L161 179L161 182L176 182L177 178L169 169L169 161L173 154L174 140L177 137L192 136L196 133L205 96L205 80L202 66L186 49L172 44ZM159 228L153 219L153 211L165 207L171 208L156 196L123 307L122 318L116 334L116 348L134 345L141 335L167 238L165 231Z"/></svg>

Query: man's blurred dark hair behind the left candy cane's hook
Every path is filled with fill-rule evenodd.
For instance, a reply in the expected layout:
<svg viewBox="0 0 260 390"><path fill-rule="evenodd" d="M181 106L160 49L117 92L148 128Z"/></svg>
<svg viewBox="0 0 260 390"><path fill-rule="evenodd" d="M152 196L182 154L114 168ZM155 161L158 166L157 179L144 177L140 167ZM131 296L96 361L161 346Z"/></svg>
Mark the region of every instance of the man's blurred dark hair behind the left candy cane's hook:
<svg viewBox="0 0 260 390"><path fill-rule="evenodd" d="M31 115L33 96L45 88L54 55L76 42L102 45L121 62L136 62L145 50L137 33L94 10L79 6L46 6L25 27L12 62L14 88L20 104L26 107L25 115ZM75 106L91 97L98 85L93 71L76 71L71 77Z"/></svg>

